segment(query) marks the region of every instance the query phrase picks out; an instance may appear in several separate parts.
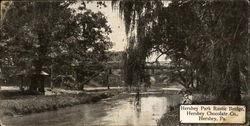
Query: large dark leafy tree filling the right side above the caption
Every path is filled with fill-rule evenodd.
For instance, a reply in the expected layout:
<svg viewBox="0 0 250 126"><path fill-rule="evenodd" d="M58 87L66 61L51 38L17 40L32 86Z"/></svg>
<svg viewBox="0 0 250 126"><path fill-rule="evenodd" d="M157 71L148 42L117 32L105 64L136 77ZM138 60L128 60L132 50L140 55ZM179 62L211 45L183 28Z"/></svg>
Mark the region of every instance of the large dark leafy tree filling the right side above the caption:
<svg viewBox="0 0 250 126"><path fill-rule="evenodd" d="M199 90L225 99L220 102L238 103L247 77L247 6L246 1L173 1L161 11L153 48L181 68L174 74L187 88L196 80Z"/></svg>

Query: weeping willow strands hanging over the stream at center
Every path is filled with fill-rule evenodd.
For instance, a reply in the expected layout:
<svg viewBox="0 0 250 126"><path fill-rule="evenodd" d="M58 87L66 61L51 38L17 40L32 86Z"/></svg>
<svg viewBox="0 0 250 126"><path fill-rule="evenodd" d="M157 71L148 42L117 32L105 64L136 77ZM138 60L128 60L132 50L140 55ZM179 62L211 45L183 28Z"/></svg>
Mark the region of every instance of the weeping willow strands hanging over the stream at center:
<svg viewBox="0 0 250 126"><path fill-rule="evenodd" d="M144 81L145 61L152 48L150 31L156 23L156 13L163 7L159 0L114 0L120 17L125 22L128 46L124 55L124 79L129 86L138 86Z"/></svg>

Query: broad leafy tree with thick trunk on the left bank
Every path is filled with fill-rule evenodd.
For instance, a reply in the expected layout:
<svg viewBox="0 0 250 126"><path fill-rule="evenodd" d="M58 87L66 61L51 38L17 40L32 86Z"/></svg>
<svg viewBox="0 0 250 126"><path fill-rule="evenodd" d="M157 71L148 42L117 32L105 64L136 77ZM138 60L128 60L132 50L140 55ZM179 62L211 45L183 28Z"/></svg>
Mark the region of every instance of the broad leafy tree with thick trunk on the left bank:
<svg viewBox="0 0 250 126"><path fill-rule="evenodd" d="M32 91L44 91L40 73L51 64L70 68L103 61L112 46L105 16L87 10L84 3L72 9L73 3L14 2L6 14L1 27L5 57L19 71L33 71Z"/></svg>

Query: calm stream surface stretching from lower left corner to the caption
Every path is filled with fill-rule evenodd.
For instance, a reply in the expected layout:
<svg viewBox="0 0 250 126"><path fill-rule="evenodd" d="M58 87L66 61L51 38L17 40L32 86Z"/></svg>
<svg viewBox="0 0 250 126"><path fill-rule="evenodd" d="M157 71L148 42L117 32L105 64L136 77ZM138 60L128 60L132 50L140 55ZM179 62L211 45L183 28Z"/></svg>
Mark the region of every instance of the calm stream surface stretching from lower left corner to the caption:
<svg viewBox="0 0 250 126"><path fill-rule="evenodd" d="M157 125L169 107L179 102L177 95L103 100L57 111L5 117L2 123L6 126Z"/></svg>

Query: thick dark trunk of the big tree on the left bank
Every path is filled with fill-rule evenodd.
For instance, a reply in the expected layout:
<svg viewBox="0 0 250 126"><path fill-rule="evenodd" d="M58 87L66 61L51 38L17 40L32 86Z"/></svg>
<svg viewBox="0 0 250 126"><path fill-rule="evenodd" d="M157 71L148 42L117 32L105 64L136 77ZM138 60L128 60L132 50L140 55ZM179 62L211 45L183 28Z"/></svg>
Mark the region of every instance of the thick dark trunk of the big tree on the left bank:
<svg viewBox="0 0 250 126"><path fill-rule="evenodd" d="M38 36L39 48L37 51L37 59L33 61L35 67L35 75L32 77L32 82L30 86L31 91L41 91L44 93L44 79L40 76L44 63L46 61L46 56L48 52L49 38L51 35L49 12L47 11L50 7L48 3L36 3L35 4L37 16L35 17L35 25L36 33Z"/></svg>

